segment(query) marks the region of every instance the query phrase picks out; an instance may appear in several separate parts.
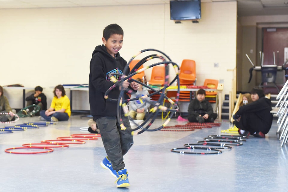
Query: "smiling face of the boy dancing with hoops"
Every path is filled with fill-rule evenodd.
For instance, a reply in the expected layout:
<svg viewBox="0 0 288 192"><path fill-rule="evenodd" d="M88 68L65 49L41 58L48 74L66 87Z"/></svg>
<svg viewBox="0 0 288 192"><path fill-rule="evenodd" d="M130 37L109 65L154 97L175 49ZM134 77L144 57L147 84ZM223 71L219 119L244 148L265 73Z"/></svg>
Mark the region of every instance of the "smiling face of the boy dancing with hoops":
<svg viewBox="0 0 288 192"><path fill-rule="evenodd" d="M115 58L115 54L119 52L123 44L123 35L113 34L108 40L102 38L103 44L105 45L107 52Z"/></svg>

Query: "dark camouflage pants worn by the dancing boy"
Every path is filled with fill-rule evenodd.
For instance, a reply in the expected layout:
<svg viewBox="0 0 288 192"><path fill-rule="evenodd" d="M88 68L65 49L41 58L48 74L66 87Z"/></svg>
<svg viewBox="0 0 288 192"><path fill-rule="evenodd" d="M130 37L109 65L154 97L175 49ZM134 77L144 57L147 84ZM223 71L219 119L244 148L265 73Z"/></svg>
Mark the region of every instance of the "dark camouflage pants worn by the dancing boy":
<svg viewBox="0 0 288 192"><path fill-rule="evenodd" d="M129 119L123 117L122 121L127 128L126 130L121 130L120 123L117 121L116 116L96 119L96 124L99 127L108 159L116 171L124 169L125 163L123 161L123 155L125 155L133 145Z"/></svg>

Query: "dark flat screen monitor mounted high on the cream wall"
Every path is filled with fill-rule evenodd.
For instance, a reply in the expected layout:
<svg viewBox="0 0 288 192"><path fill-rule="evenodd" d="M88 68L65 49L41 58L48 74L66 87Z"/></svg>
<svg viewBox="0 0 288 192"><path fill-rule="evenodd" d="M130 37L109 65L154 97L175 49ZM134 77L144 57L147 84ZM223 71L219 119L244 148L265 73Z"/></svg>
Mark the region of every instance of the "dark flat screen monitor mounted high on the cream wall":
<svg viewBox="0 0 288 192"><path fill-rule="evenodd" d="M194 20L201 18L200 0L170 1L171 20Z"/></svg>

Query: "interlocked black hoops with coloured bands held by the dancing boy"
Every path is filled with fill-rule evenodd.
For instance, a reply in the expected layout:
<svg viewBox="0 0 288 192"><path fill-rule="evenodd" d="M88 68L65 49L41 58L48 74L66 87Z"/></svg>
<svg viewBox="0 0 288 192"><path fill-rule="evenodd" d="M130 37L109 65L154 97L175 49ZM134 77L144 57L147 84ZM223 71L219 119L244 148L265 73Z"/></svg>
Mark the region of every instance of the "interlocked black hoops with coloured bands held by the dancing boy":
<svg viewBox="0 0 288 192"><path fill-rule="evenodd" d="M173 114L175 112L177 112L179 110L179 107L178 107L178 101L179 101L179 92L180 92L180 84L179 84L179 66L172 62L171 59L163 52L159 51L159 50L156 50L156 49L144 49L140 52L138 52L136 55L134 55L130 61L128 62L128 65L125 66L123 72L126 73L128 72L129 70L129 65L131 63L132 60L134 60L134 58L138 55L140 55L141 53L143 52L146 52L146 51L153 51L153 52L158 52L158 54L152 54L152 55L149 55L149 56L146 56L144 57L142 60L140 60L134 67L133 69L131 69L130 73L127 75L127 76L122 76L123 78L121 80L117 80L115 77L113 76L110 76L110 79L112 82L114 82L115 84L113 86L111 86L104 94L104 98L107 99L107 101L114 101L114 102L117 102L117 120L120 122L120 127L122 130L125 130L126 129L126 126L124 125L123 121L122 121L122 117L123 115L124 116L128 116L128 113L129 113L129 110L128 110L128 102L129 101L136 101L136 100L139 100L140 98L147 98L147 97L150 97L152 95L155 95L155 94L159 94L160 97L158 99L158 101L156 102L155 104L155 107L152 108L152 111L150 111L148 117L146 118L146 120L141 124L141 125L138 125L133 119L130 119L135 125L138 125L137 128L134 128L134 129L131 129L131 131L136 131L138 129L142 129L141 131L139 131L137 134L141 134L143 133L144 131L158 131L160 129L162 129L163 127L165 127L171 120ZM162 54L162 55L161 55ZM164 58L165 57L165 58ZM142 69L139 69L140 66L142 66L145 62L147 61L150 61L152 59L161 59L162 62L158 62L158 63L155 63L155 64L151 64L150 66L147 66L147 67L143 67ZM164 81L164 86L162 88L160 88L159 90L156 90L140 81L137 81L136 79L132 79L132 76L134 76L135 74L137 73L140 73L146 69L149 69L151 67L155 67L157 65L160 65L160 64L164 64L165 66L165 81ZM169 83L168 80L169 80L169 64L172 64L173 67L174 67L174 70L175 70L175 73L176 73L176 76L175 78ZM139 70L138 70L139 69ZM114 75L114 74L111 74L111 75ZM122 75L122 74L117 74L117 75ZM127 90L121 90L120 91L120 94L119 94L119 98L118 99L112 99L112 98L109 98L108 95L110 93L110 91L118 86L120 86L122 84L123 81L125 80L128 80L128 82L137 82L139 84L141 84L142 86L146 87L146 88L149 88L151 89L152 91L154 91L153 93L149 94L149 95L145 95L145 96L142 96L142 97L139 97L139 98L133 98L133 99L125 99L124 97L124 93L127 92L128 94L132 94L133 93L133 90L131 89L127 89ZM168 98L165 93L166 93L166 89L167 87L169 87L173 82L175 82L177 80L177 87L178 87L178 90L177 90L177 95L176 95L176 102L172 101L170 98ZM173 107L171 107L170 109L168 109L167 107L161 105L161 103L164 103L164 99L167 99ZM122 109L121 109L122 107ZM124 114L122 114L122 110L124 112ZM166 122L164 122L163 125L161 125L160 127L158 128L155 128L155 129L149 129L149 127L152 125L152 123L155 121L156 117L157 117L157 114L159 111L169 111L169 112L172 112L169 116L169 118L166 120ZM150 120L152 119L149 124L143 128L143 126Z"/></svg>

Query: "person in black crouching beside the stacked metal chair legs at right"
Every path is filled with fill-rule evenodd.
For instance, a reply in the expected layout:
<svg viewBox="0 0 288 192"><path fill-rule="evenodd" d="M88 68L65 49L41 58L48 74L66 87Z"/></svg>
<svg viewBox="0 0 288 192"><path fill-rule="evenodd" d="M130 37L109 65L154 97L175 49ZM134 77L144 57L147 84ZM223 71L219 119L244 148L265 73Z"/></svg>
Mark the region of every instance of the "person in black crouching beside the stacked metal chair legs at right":
<svg viewBox="0 0 288 192"><path fill-rule="evenodd" d="M262 88L254 87L251 91L252 103L239 107L233 115L233 122L241 136L252 134L254 137L265 138L271 128L273 115L270 113L271 100L265 98Z"/></svg>

